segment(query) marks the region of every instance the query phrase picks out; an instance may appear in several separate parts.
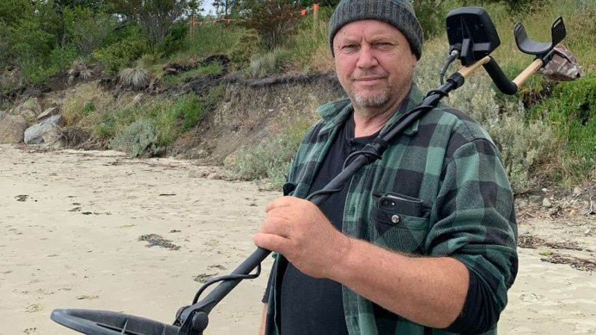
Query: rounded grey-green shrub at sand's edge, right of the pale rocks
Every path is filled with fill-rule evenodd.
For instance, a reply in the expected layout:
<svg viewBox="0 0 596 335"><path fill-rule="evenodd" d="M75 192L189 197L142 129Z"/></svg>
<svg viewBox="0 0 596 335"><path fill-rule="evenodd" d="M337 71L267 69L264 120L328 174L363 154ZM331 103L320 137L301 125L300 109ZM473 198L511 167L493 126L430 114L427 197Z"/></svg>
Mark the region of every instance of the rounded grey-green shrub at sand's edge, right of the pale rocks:
<svg viewBox="0 0 596 335"><path fill-rule="evenodd" d="M148 119L138 119L109 141L110 149L124 151L131 157L158 153L158 135Z"/></svg>

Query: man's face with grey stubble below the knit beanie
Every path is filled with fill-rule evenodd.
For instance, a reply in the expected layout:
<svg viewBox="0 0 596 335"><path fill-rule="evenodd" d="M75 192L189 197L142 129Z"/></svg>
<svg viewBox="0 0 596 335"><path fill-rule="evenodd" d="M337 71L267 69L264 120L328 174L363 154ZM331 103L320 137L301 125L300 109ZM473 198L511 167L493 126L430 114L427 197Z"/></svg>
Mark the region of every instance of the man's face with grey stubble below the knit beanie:
<svg viewBox="0 0 596 335"><path fill-rule="evenodd" d="M333 39L339 83L355 106L389 108L408 93L416 55L389 23L354 21Z"/></svg>

